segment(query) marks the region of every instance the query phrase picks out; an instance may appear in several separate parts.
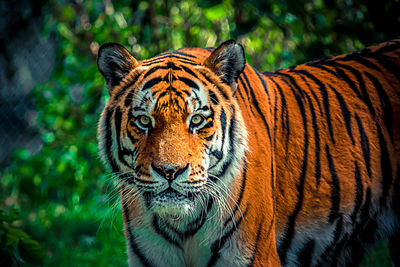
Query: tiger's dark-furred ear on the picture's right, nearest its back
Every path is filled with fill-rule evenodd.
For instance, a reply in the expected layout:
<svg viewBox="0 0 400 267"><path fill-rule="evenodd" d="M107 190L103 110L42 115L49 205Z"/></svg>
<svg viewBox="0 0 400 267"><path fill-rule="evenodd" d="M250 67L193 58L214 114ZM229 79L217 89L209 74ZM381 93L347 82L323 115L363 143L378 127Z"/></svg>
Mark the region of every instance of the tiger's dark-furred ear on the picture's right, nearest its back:
<svg viewBox="0 0 400 267"><path fill-rule="evenodd" d="M233 40L225 41L211 53L204 65L235 90L237 78L246 65L243 46Z"/></svg>

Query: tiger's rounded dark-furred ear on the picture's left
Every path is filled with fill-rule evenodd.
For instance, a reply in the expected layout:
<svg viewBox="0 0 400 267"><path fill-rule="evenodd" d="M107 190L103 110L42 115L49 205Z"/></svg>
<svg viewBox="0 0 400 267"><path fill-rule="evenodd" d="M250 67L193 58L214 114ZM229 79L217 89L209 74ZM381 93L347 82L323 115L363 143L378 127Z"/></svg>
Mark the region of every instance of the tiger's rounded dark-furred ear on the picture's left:
<svg viewBox="0 0 400 267"><path fill-rule="evenodd" d="M120 44L106 43L99 48L97 67L106 78L109 93L137 65L137 60Z"/></svg>

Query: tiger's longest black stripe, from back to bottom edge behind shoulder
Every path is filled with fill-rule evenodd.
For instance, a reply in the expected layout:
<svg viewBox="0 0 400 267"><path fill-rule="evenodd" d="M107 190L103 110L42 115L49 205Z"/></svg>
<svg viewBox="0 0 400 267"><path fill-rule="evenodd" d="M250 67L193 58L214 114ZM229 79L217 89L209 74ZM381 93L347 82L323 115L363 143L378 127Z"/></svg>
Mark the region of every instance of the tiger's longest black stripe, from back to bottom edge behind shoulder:
<svg viewBox="0 0 400 267"><path fill-rule="evenodd" d="M302 166L300 169L301 172L300 172L299 182L296 186L297 192L298 192L296 206L295 206L292 214L288 218L288 222L286 224L285 231L283 234L283 241L278 248L278 254L279 254L279 258L281 260L282 265L286 264L286 255L290 249L292 240L295 235L295 226L296 226L297 216L299 215L300 210L303 206L303 202L304 202L304 185L305 185L306 172L307 172L308 142L309 142L308 129L307 129L307 118L306 118L304 104L302 102L301 97L293 90L292 86L290 84L288 84L288 85L289 85L289 88L292 90L293 95L296 98L297 105L299 106L301 117L302 117L303 130L304 130L304 137L303 137L304 138L304 156L303 156Z"/></svg>

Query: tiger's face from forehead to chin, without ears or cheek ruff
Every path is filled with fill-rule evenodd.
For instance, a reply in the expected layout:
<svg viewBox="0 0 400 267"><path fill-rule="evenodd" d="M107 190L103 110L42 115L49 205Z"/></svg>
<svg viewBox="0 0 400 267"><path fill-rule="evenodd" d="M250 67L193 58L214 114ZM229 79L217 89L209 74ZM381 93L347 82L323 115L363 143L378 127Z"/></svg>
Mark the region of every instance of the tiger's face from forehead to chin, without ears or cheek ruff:
<svg viewBox="0 0 400 267"><path fill-rule="evenodd" d="M150 193L150 207L160 212L190 209L203 191L210 164L207 148L216 136L215 112L220 112L203 84L178 75L168 69L165 77L154 73L138 84L126 125L127 135L137 140L135 184Z"/></svg>

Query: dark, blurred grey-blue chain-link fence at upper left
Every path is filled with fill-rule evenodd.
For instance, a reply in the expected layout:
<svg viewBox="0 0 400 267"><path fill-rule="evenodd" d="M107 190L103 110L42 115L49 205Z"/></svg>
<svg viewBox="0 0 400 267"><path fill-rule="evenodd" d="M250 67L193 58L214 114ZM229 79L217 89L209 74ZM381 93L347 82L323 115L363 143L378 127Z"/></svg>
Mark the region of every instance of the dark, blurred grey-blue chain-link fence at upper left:
<svg viewBox="0 0 400 267"><path fill-rule="evenodd" d="M19 1L17 1L19 2ZM34 100L29 92L53 69L55 42L40 36L41 18L24 1L0 4L0 167L9 165L15 148L36 153ZM40 6L40 4L39 4ZM39 8L40 9L40 8Z"/></svg>

